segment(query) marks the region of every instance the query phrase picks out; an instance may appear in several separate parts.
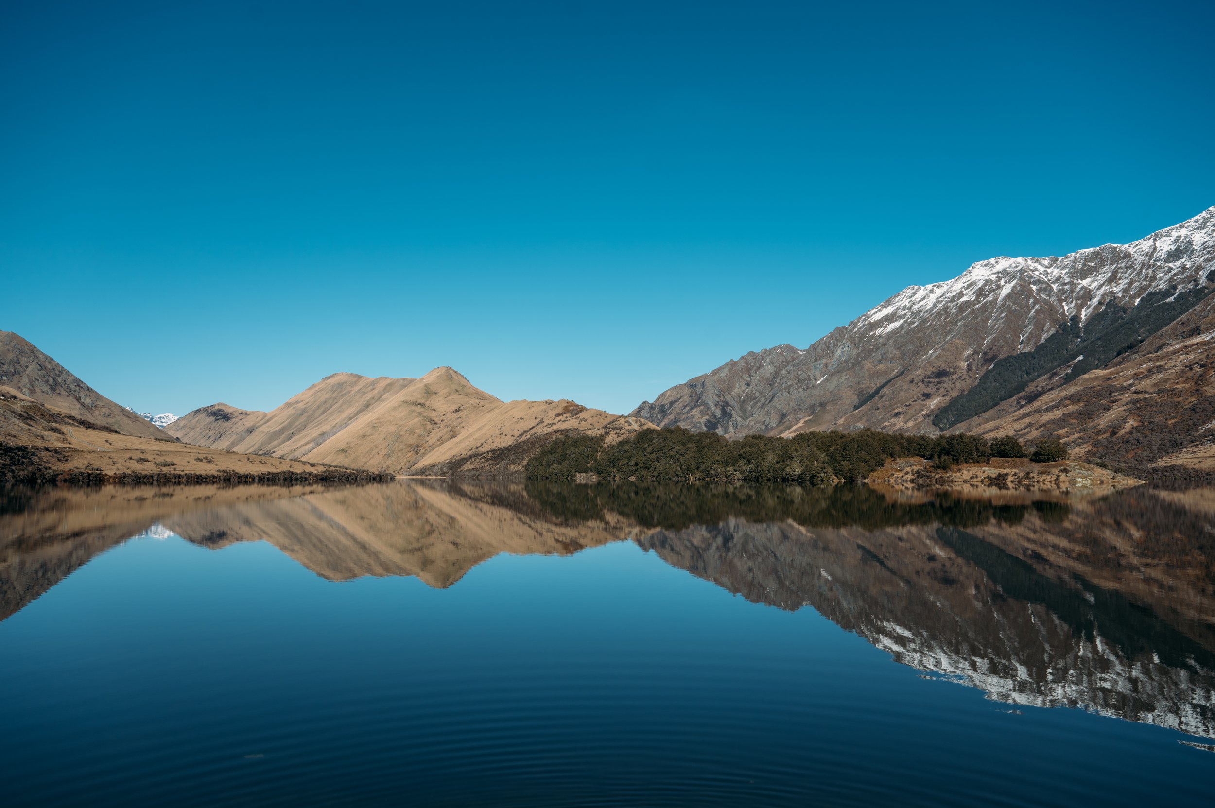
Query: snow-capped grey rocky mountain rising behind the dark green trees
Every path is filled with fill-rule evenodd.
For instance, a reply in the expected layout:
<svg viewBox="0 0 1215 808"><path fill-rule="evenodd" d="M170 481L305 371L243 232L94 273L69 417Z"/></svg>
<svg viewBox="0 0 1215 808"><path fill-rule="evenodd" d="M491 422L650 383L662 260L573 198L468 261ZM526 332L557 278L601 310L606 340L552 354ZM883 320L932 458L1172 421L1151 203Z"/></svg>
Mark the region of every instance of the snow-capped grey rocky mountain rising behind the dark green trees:
<svg viewBox="0 0 1215 808"><path fill-rule="evenodd" d="M1143 360L1153 335L1209 303L1213 270L1215 208L1131 244L994 258L909 287L804 350L778 345L727 362L632 414L724 435L973 428L1034 384L1044 395L1115 360ZM1096 440L1081 428L1066 436L1081 448Z"/></svg>

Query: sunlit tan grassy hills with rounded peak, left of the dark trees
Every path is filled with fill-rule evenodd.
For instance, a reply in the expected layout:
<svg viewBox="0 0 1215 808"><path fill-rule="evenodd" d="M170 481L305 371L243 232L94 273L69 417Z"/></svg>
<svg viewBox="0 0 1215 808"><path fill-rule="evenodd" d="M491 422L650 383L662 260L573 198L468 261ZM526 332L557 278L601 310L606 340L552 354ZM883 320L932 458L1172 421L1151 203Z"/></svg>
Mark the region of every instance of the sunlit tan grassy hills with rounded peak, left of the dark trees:
<svg viewBox="0 0 1215 808"><path fill-rule="evenodd" d="M519 469L567 433L623 437L645 422L572 401L499 401L450 367L411 379L334 373L271 412L226 403L165 428L197 446L389 473Z"/></svg>

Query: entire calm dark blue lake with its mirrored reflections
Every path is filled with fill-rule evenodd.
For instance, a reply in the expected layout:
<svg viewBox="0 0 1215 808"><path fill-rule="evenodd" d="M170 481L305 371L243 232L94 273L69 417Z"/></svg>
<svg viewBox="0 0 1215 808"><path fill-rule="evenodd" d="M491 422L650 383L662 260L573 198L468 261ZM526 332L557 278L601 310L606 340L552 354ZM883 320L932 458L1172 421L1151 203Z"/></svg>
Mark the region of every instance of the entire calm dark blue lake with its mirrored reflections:
<svg viewBox="0 0 1215 808"><path fill-rule="evenodd" d="M1215 802L1215 492L0 497L5 806Z"/></svg>

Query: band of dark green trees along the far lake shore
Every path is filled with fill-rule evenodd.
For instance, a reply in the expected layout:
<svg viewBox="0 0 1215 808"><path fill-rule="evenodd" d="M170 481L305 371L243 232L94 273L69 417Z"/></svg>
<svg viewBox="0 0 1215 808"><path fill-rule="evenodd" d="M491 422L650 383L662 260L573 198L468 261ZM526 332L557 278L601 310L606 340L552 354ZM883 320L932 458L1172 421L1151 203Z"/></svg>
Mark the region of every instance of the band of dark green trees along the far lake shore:
<svg viewBox="0 0 1215 808"><path fill-rule="evenodd" d="M616 443L567 435L537 452L526 464L533 480L572 480L580 474L649 481L750 481L831 485L859 481L892 458L920 457L937 468L985 463L993 457L1025 457L1013 437L988 441L978 435L895 435L872 429L809 431L792 437L747 435L728 440L716 433L682 426L645 429ZM1061 460L1059 441L1040 441L1035 462Z"/></svg>

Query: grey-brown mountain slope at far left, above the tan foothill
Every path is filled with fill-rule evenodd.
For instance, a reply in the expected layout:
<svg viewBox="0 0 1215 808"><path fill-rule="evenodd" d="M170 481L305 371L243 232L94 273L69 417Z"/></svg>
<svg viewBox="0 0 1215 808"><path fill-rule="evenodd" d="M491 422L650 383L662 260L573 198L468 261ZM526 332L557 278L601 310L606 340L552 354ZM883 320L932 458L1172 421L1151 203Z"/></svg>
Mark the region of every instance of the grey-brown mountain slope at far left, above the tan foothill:
<svg viewBox="0 0 1215 808"><path fill-rule="evenodd" d="M50 356L7 330L0 330L0 386L122 435L164 437L157 426L101 395Z"/></svg>

